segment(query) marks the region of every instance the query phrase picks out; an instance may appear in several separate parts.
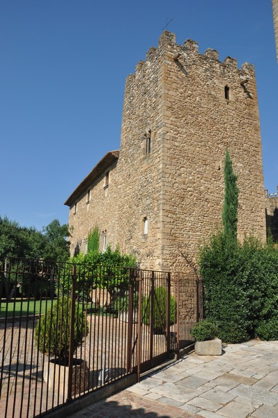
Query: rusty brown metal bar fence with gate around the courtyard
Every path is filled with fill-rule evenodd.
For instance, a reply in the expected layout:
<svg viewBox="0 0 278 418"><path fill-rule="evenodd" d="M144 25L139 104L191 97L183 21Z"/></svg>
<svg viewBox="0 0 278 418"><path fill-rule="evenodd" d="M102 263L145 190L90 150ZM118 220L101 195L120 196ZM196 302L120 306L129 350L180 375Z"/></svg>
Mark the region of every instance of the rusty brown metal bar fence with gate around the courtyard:
<svg viewBox="0 0 278 418"><path fill-rule="evenodd" d="M192 343L195 273L6 258L0 266L0 414L36 417Z"/></svg>

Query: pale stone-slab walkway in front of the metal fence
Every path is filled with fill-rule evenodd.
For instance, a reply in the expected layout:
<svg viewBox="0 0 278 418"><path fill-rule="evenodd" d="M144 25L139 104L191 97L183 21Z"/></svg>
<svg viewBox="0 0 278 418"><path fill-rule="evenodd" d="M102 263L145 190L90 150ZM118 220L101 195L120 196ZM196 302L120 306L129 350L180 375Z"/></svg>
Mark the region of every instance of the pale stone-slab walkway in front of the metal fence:
<svg viewBox="0 0 278 418"><path fill-rule="evenodd" d="M219 357L187 355L72 418L277 418L278 341L223 348Z"/></svg>

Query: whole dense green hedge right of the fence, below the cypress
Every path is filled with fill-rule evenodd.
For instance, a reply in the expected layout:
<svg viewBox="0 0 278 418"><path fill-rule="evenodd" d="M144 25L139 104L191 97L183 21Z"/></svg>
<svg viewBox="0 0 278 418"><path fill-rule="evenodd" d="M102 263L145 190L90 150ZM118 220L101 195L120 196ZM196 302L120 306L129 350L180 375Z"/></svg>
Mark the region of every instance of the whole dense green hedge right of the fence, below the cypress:
<svg viewBox="0 0 278 418"><path fill-rule="evenodd" d="M270 332L278 318L278 249L247 238L240 245L222 232L201 250L205 316L219 326L219 338L240 343Z"/></svg>

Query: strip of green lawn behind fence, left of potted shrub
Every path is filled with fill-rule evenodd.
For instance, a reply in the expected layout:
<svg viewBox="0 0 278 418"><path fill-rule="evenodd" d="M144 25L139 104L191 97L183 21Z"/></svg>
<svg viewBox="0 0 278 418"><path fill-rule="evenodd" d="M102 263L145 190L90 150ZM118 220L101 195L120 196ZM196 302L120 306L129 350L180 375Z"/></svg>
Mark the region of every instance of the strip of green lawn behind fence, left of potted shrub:
<svg viewBox="0 0 278 418"><path fill-rule="evenodd" d="M0 302L1 309L0 309L0 318L5 318L6 310L7 310L7 303ZM40 300L29 300L29 306L27 300L12 300L8 302L8 318L15 316L20 316L20 311L22 312L22 316L32 316L35 314L45 314L45 309L51 307L51 300L42 300L40 305Z"/></svg>

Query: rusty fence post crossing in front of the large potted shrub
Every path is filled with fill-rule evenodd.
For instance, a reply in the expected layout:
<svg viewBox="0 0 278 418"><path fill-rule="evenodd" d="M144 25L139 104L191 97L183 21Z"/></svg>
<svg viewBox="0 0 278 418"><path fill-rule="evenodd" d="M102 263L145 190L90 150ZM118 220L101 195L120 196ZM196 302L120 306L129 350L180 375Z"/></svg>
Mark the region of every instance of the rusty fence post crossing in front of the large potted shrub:
<svg viewBox="0 0 278 418"><path fill-rule="evenodd" d="M68 398L67 402L72 401L72 369L75 341L75 289L76 289L76 266L72 266L72 291L70 300L70 346L68 359Z"/></svg>

